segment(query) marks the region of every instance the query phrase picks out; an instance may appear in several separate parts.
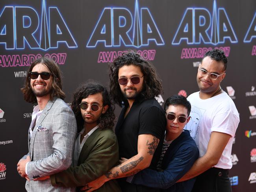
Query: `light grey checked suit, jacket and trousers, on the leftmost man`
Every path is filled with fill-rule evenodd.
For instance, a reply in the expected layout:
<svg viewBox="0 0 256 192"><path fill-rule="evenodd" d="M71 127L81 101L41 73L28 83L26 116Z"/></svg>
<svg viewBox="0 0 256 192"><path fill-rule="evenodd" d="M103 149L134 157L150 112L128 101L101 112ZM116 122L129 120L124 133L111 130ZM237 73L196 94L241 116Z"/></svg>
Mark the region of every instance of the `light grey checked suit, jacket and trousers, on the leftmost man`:
<svg viewBox="0 0 256 192"><path fill-rule="evenodd" d="M38 127L43 130L39 131ZM28 155L31 158L31 162L27 165L30 179L26 182L28 192L72 192L75 190L74 188L53 187L49 179L42 181L33 181L33 179L69 168L72 162L76 129L76 119L70 107L59 98L50 100L37 120L31 140L28 139Z"/></svg>

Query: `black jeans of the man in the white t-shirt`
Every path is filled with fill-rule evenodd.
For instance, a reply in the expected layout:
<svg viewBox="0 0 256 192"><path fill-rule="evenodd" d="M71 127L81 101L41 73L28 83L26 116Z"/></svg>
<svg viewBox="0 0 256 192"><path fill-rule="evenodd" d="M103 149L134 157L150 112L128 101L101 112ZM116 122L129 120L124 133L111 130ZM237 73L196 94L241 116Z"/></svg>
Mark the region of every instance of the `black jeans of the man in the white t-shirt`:
<svg viewBox="0 0 256 192"><path fill-rule="evenodd" d="M213 167L198 175L192 192L232 192L228 169Z"/></svg>

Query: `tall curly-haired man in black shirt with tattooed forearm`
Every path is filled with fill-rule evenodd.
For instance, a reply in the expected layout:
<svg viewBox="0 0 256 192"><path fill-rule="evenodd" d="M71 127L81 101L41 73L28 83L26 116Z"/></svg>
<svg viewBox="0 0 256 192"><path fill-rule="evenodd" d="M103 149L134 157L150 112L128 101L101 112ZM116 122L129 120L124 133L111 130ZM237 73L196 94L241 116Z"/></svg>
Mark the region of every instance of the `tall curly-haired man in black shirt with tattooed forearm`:
<svg viewBox="0 0 256 192"><path fill-rule="evenodd" d="M162 92L161 80L150 63L134 52L123 53L110 64L110 94L122 107L116 126L121 164L88 183L93 191L111 179L119 179L122 191L156 191L126 182L126 177L149 167L156 169L166 126L165 112L155 96ZM158 146L158 143L160 145Z"/></svg>

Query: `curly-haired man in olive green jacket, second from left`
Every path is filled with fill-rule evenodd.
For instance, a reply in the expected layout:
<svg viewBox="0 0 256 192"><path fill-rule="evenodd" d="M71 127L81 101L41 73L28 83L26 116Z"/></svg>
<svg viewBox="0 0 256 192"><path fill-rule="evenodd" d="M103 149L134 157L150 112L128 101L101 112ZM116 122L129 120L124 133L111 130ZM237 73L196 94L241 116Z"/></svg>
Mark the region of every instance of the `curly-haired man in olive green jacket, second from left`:
<svg viewBox="0 0 256 192"><path fill-rule="evenodd" d="M86 185L113 167L119 159L118 142L112 128L115 115L108 91L99 83L81 85L74 94L72 109L78 125L74 150L74 166L50 175L52 186ZM45 177L42 179L46 179ZM98 192L121 192L117 182L111 180L98 188Z"/></svg>

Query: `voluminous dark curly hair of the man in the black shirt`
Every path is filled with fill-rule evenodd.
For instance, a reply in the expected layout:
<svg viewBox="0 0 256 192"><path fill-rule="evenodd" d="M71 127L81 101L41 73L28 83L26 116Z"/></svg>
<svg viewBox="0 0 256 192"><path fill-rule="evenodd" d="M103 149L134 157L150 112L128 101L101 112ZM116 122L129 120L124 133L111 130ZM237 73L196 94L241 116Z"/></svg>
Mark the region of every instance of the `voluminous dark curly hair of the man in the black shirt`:
<svg viewBox="0 0 256 192"><path fill-rule="evenodd" d="M136 54L134 51L128 51L122 53L113 63L109 63L110 95L115 103L122 106L123 102L126 102L126 98L122 94L118 82L119 68L124 65L135 65L141 68L144 77L143 90L141 92L143 98L150 99L163 92L162 81L157 76L154 66L143 59L141 55Z"/></svg>

